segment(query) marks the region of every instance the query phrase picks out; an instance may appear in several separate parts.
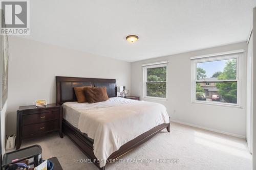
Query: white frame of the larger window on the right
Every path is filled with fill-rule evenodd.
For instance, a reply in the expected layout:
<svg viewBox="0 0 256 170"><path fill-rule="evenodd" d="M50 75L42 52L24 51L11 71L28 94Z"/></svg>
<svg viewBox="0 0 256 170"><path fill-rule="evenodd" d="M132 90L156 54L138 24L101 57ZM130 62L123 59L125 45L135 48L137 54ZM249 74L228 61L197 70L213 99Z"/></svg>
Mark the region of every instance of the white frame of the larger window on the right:
<svg viewBox="0 0 256 170"><path fill-rule="evenodd" d="M242 76L242 57L243 51L237 51L236 53L225 52L223 55L209 55L205 57L191 57L191 78L192 78L192 88L191 88L191 102L200 103L200 104L209 104L209 105L222 105L222 106L234 106L241 107L241 76ZM236 80L197 80L197 63L201 62L210 62L210 61L219 61L219 60L228 60L228 59L237 59L237 79ZM198 101L196 100L196 83L199 82L237 82L237 104L233 103L216 103L211 101Z"/></svg>

